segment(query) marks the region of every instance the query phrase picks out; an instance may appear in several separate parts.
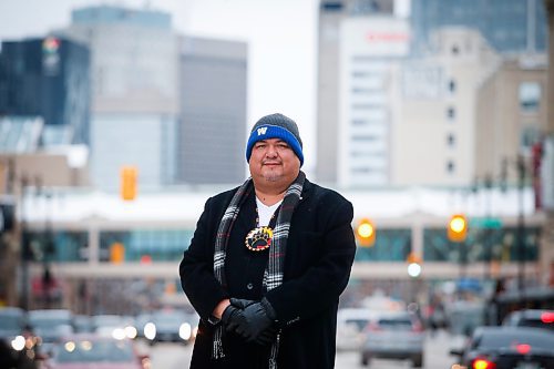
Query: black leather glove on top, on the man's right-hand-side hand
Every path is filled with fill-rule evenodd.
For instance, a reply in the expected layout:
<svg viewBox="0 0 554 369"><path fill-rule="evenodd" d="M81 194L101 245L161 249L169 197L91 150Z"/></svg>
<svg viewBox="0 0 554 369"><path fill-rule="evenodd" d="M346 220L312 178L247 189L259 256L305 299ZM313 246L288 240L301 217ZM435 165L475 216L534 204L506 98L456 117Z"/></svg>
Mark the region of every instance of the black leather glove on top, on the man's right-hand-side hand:
<svg viewBox="0 0 554 369"><path fill-rule="evenodd" d="M232 298L230 304L235 308L236 305L242 303ZM270 328L273 328L275 318L274 308L266 298L263 298L259 303L247 305L237 312L236 317L233 315L230 320L236 324L236 326L233 325L236 334L249 342L256 341L265 345L274 336L270 334ZM230 328L230 324L227 327Z"/></svg>

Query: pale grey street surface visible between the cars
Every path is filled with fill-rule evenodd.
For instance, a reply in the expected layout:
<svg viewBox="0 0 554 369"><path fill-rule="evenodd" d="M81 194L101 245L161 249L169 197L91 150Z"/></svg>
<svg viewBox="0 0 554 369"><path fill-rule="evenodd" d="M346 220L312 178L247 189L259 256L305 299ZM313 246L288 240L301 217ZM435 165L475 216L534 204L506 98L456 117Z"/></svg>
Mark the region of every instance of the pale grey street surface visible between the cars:
<svg viewBox="0 0 554 369"><path fill-rule="evenodd" d="M455 345L461 345L461 337L452 337L445 331L437 335L428 335L425 340L424 369L450 368L454 362L454 357L449 356L449 350ZM158 344L154 347L141 345L141 349L150 352L152 369L187 369L191 362L191 346L177 344ZM360 356L357 351L337 352L337 369L363 368L360 365ZM379 360L371 362L371 368L394 369L410 368L409 361Z"/></svg>

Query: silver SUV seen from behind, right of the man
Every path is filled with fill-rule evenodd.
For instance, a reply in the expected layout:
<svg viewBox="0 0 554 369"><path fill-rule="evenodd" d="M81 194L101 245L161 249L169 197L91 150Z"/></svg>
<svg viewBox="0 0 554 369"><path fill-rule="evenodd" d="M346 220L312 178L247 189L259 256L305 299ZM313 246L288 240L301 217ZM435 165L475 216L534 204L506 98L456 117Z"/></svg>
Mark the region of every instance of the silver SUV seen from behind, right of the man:
<svg viewBox="0 0 554 369"><path fill-rule="evenodd" d="M421 320L409 311L379 312L366 329L361 365L373 358L411 360L413 367L423 365L424 330Z"/></svg>

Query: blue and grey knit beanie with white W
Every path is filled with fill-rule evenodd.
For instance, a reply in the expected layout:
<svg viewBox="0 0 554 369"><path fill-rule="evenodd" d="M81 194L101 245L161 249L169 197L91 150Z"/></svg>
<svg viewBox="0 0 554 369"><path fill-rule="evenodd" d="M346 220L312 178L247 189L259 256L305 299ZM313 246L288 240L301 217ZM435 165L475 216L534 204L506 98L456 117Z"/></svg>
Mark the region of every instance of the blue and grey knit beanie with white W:
<svg viewBox="0 0 554 369"><path fill-rule="evenodd" d="M250 131L250 137L246 144L246 161L250 161L252 148L254 144L261 140L279 139L285 141L300 160L300 166L304 164L302 140L295 121L283 114L271 114L263 116L254 124Z"/></svg>

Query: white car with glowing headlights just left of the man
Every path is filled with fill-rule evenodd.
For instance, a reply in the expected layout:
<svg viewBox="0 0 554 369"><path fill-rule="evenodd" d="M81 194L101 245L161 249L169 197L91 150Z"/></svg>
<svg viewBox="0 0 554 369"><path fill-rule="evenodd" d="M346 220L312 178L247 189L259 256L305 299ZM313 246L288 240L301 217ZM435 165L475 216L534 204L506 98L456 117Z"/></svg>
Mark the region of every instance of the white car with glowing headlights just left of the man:
<svg viewBox="0 0 554 369"><path fill-rule="evenodd" d="M144 326L144 337L151 345L160 341L188 344L196 337L199 318L179 310L160 310Z"/></svg>

